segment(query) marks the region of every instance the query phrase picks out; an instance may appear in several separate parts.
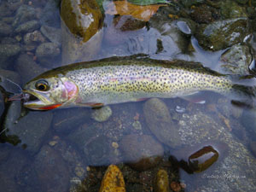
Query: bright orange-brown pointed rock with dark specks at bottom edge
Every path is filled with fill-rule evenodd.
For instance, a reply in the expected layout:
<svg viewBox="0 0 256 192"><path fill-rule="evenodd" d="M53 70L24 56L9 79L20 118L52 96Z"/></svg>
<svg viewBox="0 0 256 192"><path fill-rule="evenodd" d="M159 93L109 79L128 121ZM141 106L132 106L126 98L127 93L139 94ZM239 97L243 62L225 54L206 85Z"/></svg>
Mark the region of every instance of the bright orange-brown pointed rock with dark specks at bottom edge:
<svg viewBox="0 0 256 192"><path fill-rule="evenodd" d="M99 192L125 192L125 180L118 166L108 166Z"/></svg>

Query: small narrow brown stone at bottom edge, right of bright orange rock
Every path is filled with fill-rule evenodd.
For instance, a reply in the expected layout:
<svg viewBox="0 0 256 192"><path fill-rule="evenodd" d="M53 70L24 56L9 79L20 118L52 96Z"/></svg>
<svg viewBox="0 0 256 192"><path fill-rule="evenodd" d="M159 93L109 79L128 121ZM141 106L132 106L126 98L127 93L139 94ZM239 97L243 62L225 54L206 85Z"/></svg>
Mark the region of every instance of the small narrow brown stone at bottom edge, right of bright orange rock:
<svg viewBox="0 0 256 192"><path fill-rule="evenodd" d="M154 191L155 192L168 192L169 189L169 178L166 170L160 169L155 177Z"/></svg>

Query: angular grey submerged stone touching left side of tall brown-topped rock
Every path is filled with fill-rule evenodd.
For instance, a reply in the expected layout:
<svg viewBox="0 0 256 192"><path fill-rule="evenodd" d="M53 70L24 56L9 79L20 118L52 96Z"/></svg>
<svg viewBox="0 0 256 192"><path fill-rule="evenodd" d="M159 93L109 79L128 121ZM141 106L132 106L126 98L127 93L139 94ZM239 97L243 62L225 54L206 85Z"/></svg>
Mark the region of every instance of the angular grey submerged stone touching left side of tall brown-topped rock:
<svg viewBox="0 0 256 192"><path fill-rule="evenodd" d="M52 26L41 26L40 31L50 42L61 46L61 29Z"/></svg>

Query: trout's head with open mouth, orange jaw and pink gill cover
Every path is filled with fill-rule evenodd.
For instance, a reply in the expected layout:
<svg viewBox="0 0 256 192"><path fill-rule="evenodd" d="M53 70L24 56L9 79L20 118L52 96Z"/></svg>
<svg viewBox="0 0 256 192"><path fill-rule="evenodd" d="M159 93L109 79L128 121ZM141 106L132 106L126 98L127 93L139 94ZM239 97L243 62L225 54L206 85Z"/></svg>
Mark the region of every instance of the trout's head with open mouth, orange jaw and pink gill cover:
<svg viewBox="0 0 256 192"><path fill-rule="evenodd" d="M78 93L78 86L66 77L33 79L24 86L23 105L33 110L67 107Z"/></svg>

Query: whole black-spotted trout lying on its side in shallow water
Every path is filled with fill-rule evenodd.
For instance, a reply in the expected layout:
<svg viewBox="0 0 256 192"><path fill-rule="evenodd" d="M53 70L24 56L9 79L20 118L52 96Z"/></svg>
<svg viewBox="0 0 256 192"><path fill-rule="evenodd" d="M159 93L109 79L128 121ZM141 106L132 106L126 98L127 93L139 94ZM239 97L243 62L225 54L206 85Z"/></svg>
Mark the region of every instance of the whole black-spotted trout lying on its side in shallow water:
<svg viewBox="0 0 256 192"><path fill-rule="evenodd" d="M200 90L224 95L234 90L229 76L186 62L112 58L58 67L25 85L24 106L35 110L101 107L150 97L188 96Z"/></svg>

